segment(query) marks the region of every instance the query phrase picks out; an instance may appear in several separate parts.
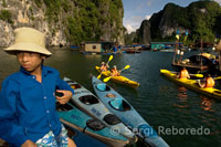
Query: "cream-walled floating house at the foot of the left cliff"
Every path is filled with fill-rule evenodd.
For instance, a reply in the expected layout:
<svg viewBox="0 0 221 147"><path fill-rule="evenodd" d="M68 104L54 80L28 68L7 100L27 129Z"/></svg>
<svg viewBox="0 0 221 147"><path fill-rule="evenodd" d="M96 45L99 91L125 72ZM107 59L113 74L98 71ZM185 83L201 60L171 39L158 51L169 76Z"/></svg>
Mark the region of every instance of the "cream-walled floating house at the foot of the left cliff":
<svg viewBox="0 0 221 147"><path fill-rule="evenodd" d="M90 42L84 42L84 52L86 53L108 53L114 51L115 43L114 42L95 42L95 41L90 41Z"/></svg>

